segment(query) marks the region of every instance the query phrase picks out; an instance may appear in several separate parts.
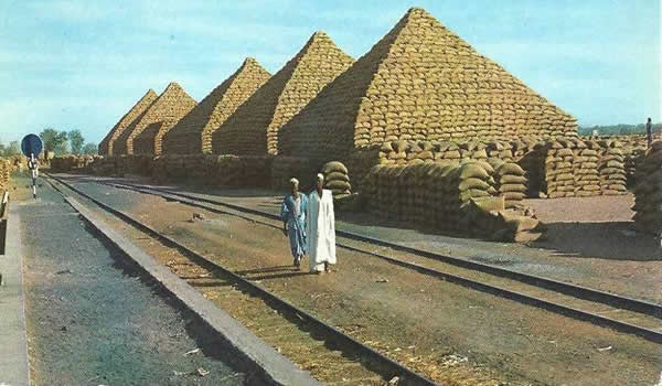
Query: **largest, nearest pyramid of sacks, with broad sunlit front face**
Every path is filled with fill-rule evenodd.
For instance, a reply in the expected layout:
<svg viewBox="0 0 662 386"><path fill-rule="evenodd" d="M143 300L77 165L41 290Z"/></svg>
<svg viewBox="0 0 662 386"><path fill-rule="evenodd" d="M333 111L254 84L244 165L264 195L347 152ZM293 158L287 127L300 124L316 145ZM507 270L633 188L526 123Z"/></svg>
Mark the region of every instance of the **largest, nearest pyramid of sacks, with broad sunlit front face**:
<svg viewBox="0 0 662 386"><path fill-rule="evenodd" d="M413 8L281 130L323 159L392 140L576 136L576 119Z"/></svg>

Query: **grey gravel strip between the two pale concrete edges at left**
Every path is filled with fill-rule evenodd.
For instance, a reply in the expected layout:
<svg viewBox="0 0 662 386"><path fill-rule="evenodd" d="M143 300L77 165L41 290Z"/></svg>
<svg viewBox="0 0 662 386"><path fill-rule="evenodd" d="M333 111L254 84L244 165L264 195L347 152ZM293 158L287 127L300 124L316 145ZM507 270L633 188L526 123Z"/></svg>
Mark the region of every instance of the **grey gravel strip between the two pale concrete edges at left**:
<svg viewBox="0 0 662 386"><path fill-rule="evenodd" d="M57 192L44 185L33 201L18 182L12 205L22 221L33 385L244 382L224 363L218 340L125 266L121 253L95 237Z"/></svg>

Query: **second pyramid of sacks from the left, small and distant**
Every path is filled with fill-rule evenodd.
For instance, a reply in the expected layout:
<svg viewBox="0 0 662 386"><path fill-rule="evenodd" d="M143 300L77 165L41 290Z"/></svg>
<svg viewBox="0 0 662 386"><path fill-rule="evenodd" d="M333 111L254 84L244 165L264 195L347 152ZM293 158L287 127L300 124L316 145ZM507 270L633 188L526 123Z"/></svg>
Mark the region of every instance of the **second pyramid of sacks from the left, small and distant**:
<svg viewBox="0 0 662 386"><path fill-rule="evenodd" d="M160 154L163 135L195 105L180 85L170 83L149 109L120 136L117 142L122 146L122 153Z"/></svg>

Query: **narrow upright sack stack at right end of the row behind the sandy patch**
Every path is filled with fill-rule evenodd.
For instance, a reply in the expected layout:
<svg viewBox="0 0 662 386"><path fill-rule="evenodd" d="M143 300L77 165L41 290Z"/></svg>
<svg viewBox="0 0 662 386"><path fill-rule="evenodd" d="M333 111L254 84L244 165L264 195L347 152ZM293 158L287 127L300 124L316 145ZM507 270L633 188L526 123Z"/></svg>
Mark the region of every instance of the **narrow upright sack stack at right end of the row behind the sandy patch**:
<svg viewBox="0 0 662 386"><path fill-rule="evenodd" d="M621 143L605 141L598 169L600 171L600 190L602 195L626 194L627 174Z"/></svg>

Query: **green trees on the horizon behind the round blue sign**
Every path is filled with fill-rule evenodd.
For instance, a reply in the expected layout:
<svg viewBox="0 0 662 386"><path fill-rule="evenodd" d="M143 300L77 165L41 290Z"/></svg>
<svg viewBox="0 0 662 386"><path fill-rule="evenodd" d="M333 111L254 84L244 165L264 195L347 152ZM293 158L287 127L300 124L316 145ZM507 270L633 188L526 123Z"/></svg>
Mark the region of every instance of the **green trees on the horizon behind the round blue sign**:
<svg viewBox="0 0 662 386"><path fill-rule="evenodd" d="M60 131L54 128L46 128L39 133L39 137L44 143L44 151L52 151L55 156L94 156L98 151L96 143L85 142L81 130ZM0 139L0 157L13 157L21 153L21 143L19 141L11 141L4 144Z"/></svg>

